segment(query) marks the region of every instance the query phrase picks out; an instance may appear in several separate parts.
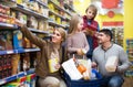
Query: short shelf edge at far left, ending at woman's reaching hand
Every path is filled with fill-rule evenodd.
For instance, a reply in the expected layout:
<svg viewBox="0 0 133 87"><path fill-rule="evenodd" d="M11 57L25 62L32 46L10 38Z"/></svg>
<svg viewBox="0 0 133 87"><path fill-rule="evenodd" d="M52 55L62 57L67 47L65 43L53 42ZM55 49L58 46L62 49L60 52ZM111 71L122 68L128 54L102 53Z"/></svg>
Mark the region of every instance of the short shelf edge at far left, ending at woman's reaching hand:
<svg viewBox="0 0 133 87"><path fill-rule="evenodd" d="M2 23L2 22L0 22L0 30L3 31L3 29L17 30L18 26L17 26L16 24L8 24L8 23Z"/></svg>

